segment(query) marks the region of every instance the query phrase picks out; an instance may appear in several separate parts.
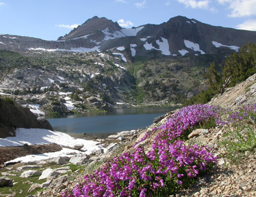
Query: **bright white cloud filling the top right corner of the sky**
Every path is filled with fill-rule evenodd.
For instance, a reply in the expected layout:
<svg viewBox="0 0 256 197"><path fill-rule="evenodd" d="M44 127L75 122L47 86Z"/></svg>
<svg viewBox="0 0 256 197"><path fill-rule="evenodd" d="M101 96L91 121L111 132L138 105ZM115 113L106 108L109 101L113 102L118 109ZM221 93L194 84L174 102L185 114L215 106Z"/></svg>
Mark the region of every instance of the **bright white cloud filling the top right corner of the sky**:
<svg viewBox="0 0 256 197"><path fill-rule="evenodd" d="M231 10L229 17L243 17L256 15L255 0L218 0L222 5L228 5Z"/></svg>

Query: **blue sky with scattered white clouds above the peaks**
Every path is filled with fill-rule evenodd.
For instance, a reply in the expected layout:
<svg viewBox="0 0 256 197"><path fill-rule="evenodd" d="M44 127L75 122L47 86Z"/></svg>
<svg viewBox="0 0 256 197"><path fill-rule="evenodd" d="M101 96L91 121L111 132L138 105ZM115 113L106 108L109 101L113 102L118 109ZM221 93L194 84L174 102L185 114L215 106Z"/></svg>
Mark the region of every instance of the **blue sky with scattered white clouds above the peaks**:
<svg viewBox="0 0 256 197"><path fill-rule="evenodd" d="M0 0L0 33L57 40L93 16L131 28L177 15L256 31L256 0Z"/></svg>

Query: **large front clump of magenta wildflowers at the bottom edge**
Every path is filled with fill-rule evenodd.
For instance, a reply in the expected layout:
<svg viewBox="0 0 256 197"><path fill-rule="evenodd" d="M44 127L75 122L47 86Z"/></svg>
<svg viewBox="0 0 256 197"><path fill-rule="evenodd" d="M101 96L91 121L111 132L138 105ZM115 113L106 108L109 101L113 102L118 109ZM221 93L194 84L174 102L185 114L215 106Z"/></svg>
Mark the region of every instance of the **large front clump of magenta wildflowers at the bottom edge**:
<svg viewBox="0 0 256 197"><path fill-rule="evenodd" d="M134 153L115 157L63 196L167 195L193 182L215 161L204 147L186 147L181 141L168 144L163 140L161 145L153 144L148 153L138 147Z"/></svg>

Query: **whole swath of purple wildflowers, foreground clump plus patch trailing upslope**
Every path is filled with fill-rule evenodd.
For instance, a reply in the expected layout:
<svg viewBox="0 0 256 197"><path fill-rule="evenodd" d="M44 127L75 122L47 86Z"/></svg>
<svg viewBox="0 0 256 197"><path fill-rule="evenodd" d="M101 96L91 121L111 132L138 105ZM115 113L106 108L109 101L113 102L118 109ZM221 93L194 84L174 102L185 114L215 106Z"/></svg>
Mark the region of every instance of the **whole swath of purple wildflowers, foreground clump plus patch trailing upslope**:
<svg viewBox="0 0 256 197"><path fill-rule="evenodd" d="M193 105L176 112L161 130L147 153L137 147L133 153L123 153L107 162L73 191L73 196L166 196L180 187L187 187L195 178L207 172L216 158L206 147L185 146L179 137L200 122L218 117L218 109L209 105ZM146 136L148 136L147 134Z"/></svg>

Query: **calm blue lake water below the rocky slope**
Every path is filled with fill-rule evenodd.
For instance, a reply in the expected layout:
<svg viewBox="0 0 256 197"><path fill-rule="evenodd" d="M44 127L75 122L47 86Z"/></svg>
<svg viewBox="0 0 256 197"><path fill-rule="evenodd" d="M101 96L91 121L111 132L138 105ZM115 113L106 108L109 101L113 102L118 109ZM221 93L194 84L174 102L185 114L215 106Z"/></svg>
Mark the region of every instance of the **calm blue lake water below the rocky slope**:
<svg viewBox="0 0 256 197"><path fill-rule="evenodd" d="M114 134L121 131L143 129L152 125L155 117L171 112L168 108L128 108L115 109L108 113L88 113L47 118L56 131L86 134Z"/></svg>

